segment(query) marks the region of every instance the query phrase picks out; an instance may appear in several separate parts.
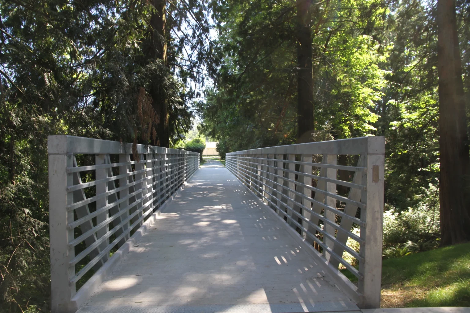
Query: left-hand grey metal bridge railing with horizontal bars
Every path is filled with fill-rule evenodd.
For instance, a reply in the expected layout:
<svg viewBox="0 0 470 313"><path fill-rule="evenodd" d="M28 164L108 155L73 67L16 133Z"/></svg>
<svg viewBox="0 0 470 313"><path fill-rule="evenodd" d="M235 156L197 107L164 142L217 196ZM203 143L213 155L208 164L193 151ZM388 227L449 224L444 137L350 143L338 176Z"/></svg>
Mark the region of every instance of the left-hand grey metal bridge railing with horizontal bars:
<svg viewBox="0 0 470 313"><path fill-rule="evenodd" d="M65 135L47 145L52 312L75 312L196 172L199 153Z"/></svg>

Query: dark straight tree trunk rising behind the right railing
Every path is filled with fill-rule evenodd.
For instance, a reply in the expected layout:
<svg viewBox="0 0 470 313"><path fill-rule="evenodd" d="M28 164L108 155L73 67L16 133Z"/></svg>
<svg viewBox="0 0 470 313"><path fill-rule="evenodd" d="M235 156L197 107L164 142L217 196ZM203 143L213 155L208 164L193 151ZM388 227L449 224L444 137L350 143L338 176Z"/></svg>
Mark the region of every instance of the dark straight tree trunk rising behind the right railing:
<svg viewBox="0 0 470 313"><path fill-rule="evenodd" d="M297 138L314 129L311 4L311 0L297 0Z"/></svg>

